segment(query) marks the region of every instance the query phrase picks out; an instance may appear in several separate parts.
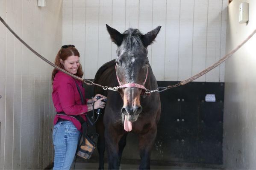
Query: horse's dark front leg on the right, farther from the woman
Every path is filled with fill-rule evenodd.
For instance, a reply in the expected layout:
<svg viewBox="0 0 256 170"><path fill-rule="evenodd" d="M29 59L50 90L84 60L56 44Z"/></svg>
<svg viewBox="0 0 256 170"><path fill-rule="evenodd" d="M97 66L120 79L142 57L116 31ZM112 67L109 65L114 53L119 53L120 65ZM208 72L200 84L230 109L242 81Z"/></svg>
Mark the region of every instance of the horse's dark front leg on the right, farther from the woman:
<svg viewBox="0 0 256 170"><path fill-rule="evenodd" d="M141 157L140 170L150 169L150 154L156 139L156 131L156 125L154 125L150 131L138 136Z"/></svg>

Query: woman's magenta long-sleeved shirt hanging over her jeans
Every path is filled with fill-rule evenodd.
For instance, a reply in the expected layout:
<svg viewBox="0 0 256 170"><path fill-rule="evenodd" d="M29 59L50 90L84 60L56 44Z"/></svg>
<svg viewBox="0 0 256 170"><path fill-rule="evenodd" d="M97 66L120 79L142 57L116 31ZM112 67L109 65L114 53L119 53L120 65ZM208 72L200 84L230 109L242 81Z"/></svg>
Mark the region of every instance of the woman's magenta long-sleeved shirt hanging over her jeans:
<svg viewBox="0 0 256 170"><path fill-rule="evenodd" d="M77 90L76 83L79 85L79 88L85 99L85 89L82 88L82 82L72 78L71 76L58 71L53 80L53 104L56 108L56 112L65 112L67 115L79 115L83 112L88 111L87 105L82 105L82 101ZM88 99L85 99L87 103ZM82 118L86 121L85 114L82 114ZM54 125L58 122L58 119L67 119L73 122L78 130L81 131L81 124L77 119L66 115L56 115L54 117Z"/></svg>

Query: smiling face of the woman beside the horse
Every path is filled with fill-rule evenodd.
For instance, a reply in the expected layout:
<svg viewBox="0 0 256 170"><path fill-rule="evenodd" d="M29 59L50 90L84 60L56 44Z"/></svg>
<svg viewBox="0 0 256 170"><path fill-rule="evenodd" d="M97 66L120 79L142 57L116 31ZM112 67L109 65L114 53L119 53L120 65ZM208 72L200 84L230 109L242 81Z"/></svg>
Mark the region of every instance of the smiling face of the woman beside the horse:
<svg viewBox="0 0 256 170"><path fill-rule="evenodd" d="M80 65L78 56L69 56L64 61L60 59L64 69L72 74L77 74L77 69Z"/></svg>

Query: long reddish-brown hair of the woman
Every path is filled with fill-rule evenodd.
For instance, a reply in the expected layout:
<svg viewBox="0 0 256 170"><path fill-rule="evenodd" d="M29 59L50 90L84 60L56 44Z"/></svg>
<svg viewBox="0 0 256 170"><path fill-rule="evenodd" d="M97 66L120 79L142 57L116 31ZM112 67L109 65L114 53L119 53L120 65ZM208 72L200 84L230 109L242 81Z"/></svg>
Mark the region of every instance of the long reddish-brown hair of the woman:
<svg viewBox="0 0 256 170"><path fill-rule="evenodd" d="M78 56L80 57L79 52L77 51L77 48L74 47L68 47L68 48L61 48L58 52L58 54L56 55L54 64L59 66L60 68L63 68L63 65L60 63L60 59L62 59L63 61L65 61L69 56ZM58 72L58 70L56 68L53 69L53 73L52 73L52 82L53 79L56 75L56 73ZM82 65L80 64L78 69L77 69L77 74L75 74L78 77L82 77L83 76L83 71L82 71Z"/></svg>

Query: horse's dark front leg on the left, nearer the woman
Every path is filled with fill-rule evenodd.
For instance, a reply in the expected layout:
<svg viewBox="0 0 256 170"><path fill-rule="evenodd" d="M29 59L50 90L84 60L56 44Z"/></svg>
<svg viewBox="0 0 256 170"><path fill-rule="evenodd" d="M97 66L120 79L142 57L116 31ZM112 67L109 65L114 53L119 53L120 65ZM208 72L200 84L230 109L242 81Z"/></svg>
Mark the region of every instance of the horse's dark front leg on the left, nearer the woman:
<svg viewBox="0 0 256 170"><path fill-rule="evenodd" d="M117 170L119 169L119 148L118 142L120 141L122 135L118 135L114 127L106 127L105 130L105 142L108 153L109 169Z"/></svg>

